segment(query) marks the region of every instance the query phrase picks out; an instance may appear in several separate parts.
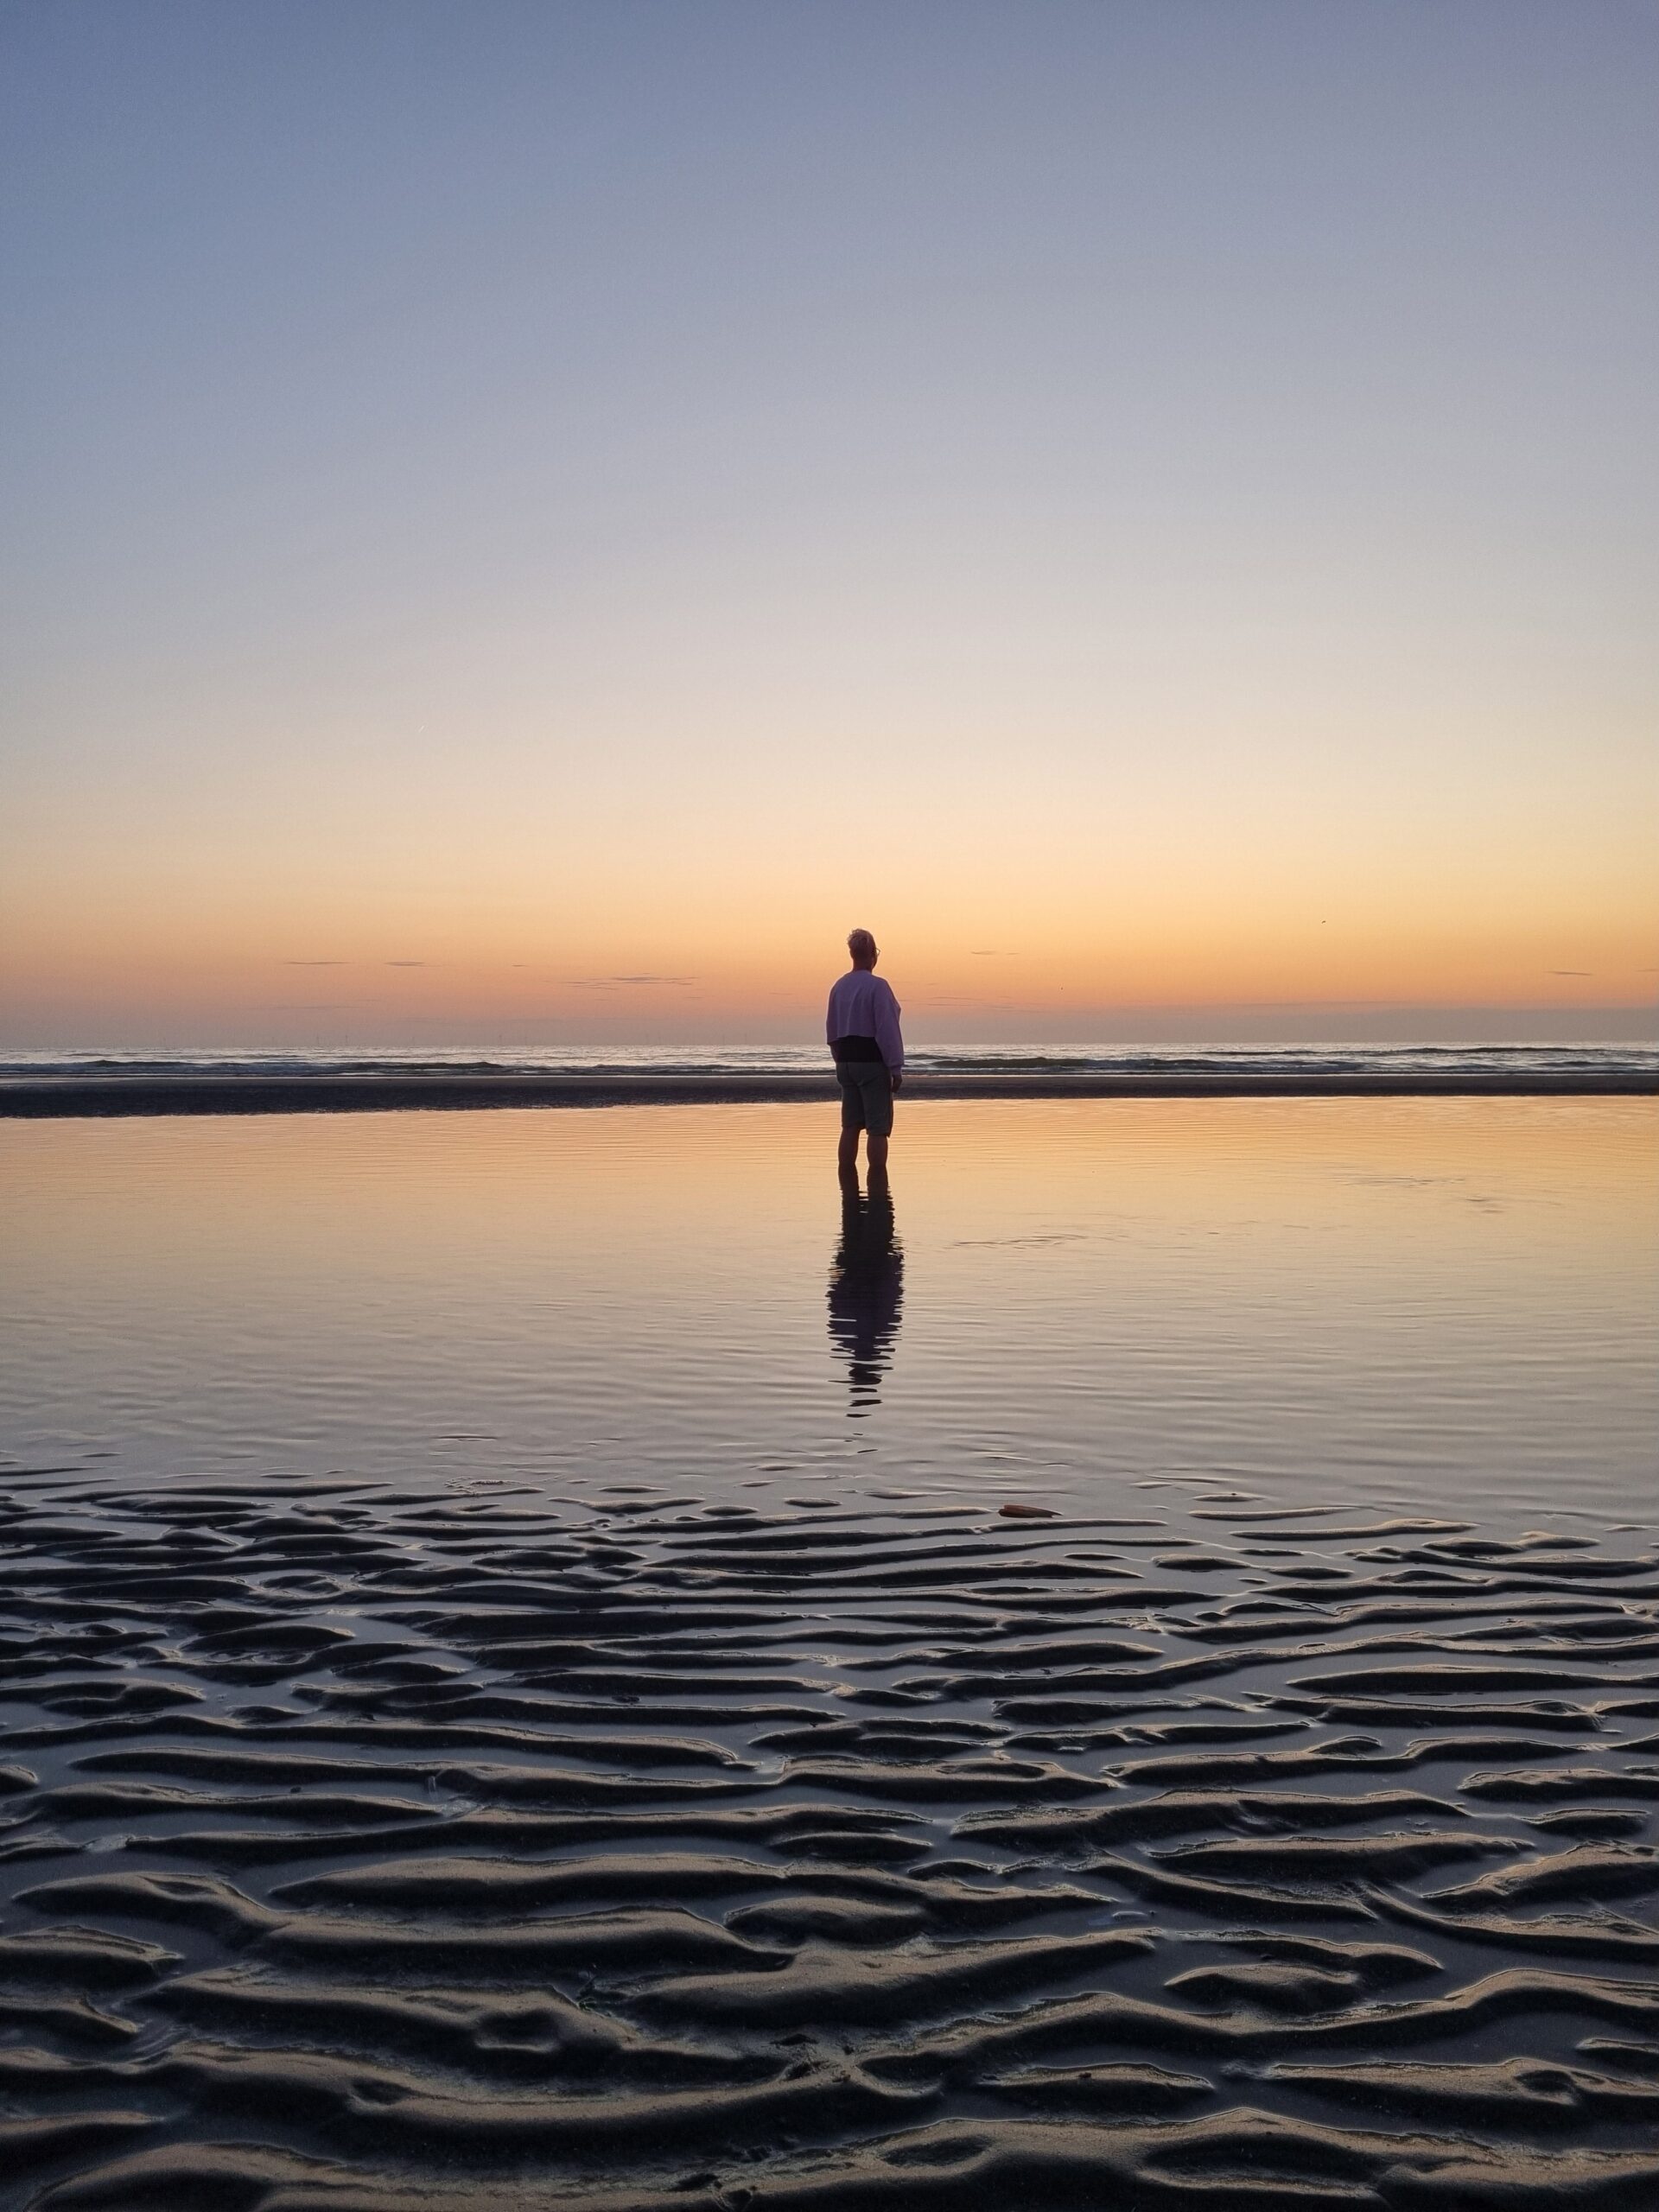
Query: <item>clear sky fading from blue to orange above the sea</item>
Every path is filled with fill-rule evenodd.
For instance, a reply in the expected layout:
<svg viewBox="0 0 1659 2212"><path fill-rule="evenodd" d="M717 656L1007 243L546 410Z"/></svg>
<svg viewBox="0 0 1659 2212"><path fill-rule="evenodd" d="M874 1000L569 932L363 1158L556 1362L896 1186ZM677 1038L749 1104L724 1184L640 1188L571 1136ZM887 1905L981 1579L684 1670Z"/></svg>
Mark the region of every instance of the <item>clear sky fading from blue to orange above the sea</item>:
<svg viewBox="0 0 1659 2212"><path fill-rule="evenodd" d="M1650 1035L1650 0L7 0L0 1042Z"/></svg>

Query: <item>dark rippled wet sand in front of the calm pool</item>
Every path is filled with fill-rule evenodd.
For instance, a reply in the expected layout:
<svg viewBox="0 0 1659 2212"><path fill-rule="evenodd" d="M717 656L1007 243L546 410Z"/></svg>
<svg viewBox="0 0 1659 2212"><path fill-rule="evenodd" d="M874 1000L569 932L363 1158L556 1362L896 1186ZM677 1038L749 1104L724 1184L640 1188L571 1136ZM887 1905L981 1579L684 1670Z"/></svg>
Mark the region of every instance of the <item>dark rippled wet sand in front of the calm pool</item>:
<svg viewBox="0 0 1659 2212"><path fill-rule="evenodd" d="M1650 2212L1659 1557L15 1471L4 2212Z"/></svg>

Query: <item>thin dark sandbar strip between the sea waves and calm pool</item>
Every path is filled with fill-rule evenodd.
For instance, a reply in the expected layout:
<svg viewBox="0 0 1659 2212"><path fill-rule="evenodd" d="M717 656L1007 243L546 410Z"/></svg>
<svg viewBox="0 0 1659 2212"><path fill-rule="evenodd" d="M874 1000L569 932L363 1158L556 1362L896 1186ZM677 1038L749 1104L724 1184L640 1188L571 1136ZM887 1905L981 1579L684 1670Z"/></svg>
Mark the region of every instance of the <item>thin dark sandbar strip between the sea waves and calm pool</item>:
<svg viewBox="0 0 1659 2212"><path fill-rule="evenodd" d="M476 1113L493 1106L818 1106L836 1097L818 1073L677 1075L53 1075L0 1082L0 1119L60 1121L232 1113ZM914 1075L905 1104L927 1099L1208 1099L1208 1097L1659 1097L1644 1071L1223 1071L1217 1075L989 1073Z"/></svg>

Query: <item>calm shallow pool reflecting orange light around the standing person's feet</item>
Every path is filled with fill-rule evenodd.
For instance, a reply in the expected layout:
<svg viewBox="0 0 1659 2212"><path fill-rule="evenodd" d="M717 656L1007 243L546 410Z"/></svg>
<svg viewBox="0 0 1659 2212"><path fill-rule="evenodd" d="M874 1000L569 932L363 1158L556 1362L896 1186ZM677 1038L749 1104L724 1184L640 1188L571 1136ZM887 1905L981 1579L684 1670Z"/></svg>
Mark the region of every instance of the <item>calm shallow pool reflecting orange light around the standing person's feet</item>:
<svg viewBox="0 0 1659 2212"><path fill-rule="evenodd" d="M431 1486L1644 1515L1648 1102L1009 1102L0 1128L0 1449ZM748 1500L761 1502L761 1500Z"/></svg>

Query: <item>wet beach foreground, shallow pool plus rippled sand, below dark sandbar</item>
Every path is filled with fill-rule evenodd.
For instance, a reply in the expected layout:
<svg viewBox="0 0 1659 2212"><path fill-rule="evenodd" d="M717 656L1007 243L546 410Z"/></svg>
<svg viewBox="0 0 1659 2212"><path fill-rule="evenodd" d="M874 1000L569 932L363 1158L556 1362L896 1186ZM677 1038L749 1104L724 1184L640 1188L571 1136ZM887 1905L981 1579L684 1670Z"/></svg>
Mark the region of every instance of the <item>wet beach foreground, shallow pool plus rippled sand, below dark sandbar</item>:
<svg viewBox="0 0 1659 2212"><path fill-rule="evenodd" d="M11 1124L0 2203L1648 2205L1644 1099Z"/></svg>

